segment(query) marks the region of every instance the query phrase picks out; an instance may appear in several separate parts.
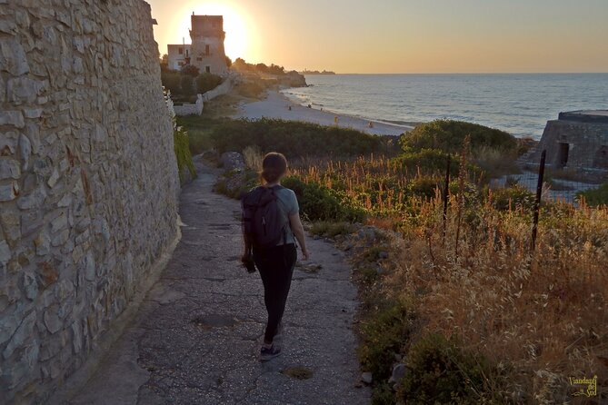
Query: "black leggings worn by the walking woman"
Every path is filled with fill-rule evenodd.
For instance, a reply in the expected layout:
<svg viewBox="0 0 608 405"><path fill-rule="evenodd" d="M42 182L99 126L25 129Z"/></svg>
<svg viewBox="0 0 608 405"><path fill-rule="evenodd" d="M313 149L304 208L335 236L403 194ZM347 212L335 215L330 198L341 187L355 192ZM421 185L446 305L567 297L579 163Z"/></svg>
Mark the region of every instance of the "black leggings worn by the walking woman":
<svg viewBox="0 0 608 405"><path fill-rule="evenodd" d="M296 259L294 243L254 249L254 262L264 283L264 303L268 311L264 341L273 341L283 319Z"/></svg>

